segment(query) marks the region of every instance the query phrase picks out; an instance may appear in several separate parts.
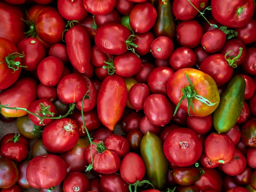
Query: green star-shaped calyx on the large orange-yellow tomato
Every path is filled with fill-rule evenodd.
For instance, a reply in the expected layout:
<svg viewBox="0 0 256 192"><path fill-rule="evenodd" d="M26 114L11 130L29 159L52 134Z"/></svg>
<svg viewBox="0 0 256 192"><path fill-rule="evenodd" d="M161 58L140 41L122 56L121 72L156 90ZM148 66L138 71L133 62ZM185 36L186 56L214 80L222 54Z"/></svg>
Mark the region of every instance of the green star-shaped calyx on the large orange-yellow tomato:
<svg viewBox="0 0 256 192"><path fill-rule="evenodd" d="M192 108L193 112L195 112L195 109L193 107L193 98L196 98L197 100L199 100L200 102L204 103L207 106L213 106L216 103L211 103L207 98L204 98L202 96L199 96L196 94L195 90L194 90L194 86L193 83L191 82L191 80L189 79L188 75L185 72L185 76L186 79L189 81L189 84L187 87L182 88L182 92L183 92L183 96L180 99L179 103L177 104L175 111L173 113L173 116L176 114L178 108L180 107L180 104L182 103L182 101L186 98L187 102L188 102L188 114L191 116L191 114L189 113L190 107Z"/></svg>

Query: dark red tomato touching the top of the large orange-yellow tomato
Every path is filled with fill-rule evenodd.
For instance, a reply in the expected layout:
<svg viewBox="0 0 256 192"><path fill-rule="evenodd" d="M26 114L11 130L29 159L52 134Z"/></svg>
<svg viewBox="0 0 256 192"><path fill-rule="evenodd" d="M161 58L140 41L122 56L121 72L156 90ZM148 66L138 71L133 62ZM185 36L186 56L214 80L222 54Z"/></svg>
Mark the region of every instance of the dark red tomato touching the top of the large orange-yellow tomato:
<svg viewBox="0 0 256 192"><path fill-rule="evenodd" d="M193 68L196 64L196 55L188 47L178 47L169 57L169 64L175 71L182 68Z"/></svg>

